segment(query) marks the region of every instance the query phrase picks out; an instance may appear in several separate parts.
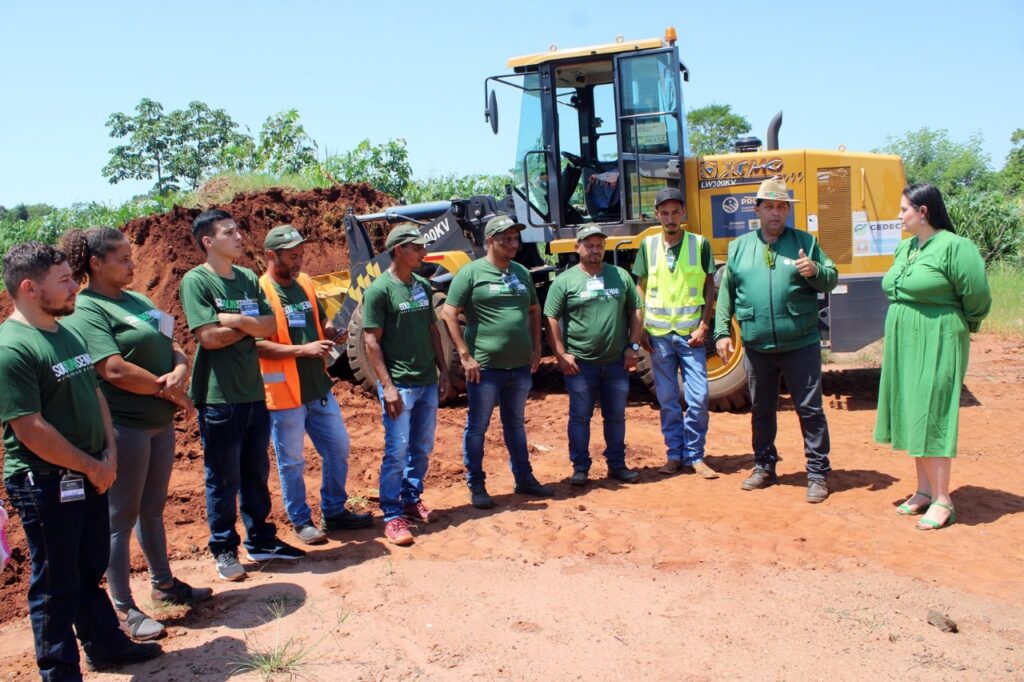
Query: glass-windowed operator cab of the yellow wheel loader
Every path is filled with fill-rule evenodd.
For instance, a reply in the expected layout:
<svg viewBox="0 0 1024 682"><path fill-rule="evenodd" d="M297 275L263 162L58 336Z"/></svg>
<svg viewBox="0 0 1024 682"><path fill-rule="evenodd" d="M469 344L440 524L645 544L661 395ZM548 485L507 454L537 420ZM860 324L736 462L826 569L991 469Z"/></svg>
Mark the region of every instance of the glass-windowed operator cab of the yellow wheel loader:
<svg viewBox="0 0 1024 682"><path fill-rule="evenodd" d="M652 224L656 191L683 188L688 155L679 61L658 39L514 57L521 90L512 201L523 240L572 236L585 222L609 235ZM492 93L493 94L493 93ZM497 128L497 106L488 118Z"/></svg>

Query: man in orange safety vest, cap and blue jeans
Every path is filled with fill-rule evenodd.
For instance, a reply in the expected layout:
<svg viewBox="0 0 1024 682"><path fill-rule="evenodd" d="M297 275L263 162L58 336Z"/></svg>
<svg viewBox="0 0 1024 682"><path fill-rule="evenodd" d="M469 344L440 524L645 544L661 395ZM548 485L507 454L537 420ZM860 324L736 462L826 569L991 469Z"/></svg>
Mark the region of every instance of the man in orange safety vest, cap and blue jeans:
<svg viewBox="0 0 1024 682"><path fill-rule="evenodd" d="M266 271L259 284L273 310L276 329L257 340L256 349L285 511L299 540L318 545L327 541L324 530L365 528L373 517L345 508L348 432L331 393L326 360L335 341L344 340L347 332L331 326L316 300L312 280L302 272L304 244L292 225L278 225L263 240ZM306 504L302 443L307 433L323 460L321 527L313 524Z"/></svg>

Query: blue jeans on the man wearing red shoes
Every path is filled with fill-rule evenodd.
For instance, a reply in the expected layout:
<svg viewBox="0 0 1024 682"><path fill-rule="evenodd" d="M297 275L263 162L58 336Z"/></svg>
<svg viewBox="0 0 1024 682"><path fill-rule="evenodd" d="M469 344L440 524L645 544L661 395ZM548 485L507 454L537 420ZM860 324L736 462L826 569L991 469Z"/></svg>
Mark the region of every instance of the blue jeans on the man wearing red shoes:
<svg viewBox="0 0 1024 682"><path fill-rule="evenodd" d="M384 387L377 384L384 420L384 457L381 459L381 512L384 522L401 516L408 504L419 502L434 449L437 424L437 384L395 386L404 406L395 419L384 408Z"/></svg>

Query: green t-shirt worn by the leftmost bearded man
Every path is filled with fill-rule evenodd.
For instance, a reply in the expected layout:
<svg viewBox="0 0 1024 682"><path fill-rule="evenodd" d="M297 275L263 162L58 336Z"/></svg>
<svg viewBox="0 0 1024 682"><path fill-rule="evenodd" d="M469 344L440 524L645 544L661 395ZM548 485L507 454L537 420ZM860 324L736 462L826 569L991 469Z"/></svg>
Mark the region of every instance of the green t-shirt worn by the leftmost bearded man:
<svg viewBox="0 0 1024 682"><path fill-rule="evenodd" d="M57 467L22 444L12 419L39 413L65 438L98 459L103 418L96 398L96 371L85 342L57 325L46 332L14 319L0 325L0 421L3 422L3 477Z"/></svg>

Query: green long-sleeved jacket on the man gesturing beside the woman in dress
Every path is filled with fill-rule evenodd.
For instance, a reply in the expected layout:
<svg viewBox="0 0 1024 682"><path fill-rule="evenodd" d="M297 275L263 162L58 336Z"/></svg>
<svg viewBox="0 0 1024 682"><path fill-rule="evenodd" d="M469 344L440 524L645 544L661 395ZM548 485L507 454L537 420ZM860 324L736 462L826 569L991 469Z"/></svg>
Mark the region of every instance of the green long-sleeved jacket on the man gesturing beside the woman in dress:
<svg viewBox="0 0 1024 682"><path fill-rule="evenodd" d="M801 249L818 265L813 278L797 272L794 263ZM768 255L766 251L760 229L729 244L715 310L715 340L729 336L735 314L743 344L759 352L784 352L819 343L818 293L836 288L836 263L814 236L790 227Z"/></svg>

